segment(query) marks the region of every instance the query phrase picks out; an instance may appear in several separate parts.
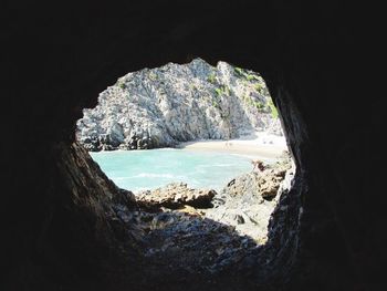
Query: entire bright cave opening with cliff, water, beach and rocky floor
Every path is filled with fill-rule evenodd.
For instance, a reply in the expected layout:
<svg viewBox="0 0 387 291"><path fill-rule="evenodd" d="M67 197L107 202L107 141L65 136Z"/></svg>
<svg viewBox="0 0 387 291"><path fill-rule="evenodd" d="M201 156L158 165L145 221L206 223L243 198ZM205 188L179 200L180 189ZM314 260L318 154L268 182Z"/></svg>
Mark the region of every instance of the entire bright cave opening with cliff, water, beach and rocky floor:
<svg viewBox="0 0 387 291"><path fill-rule="evenodd" d="M147 266L166 268L146 277L208 276L261 251L295 165L259 73L199 58L143 69L83 114L77 142L135 205L116 209Z"/></svg>

